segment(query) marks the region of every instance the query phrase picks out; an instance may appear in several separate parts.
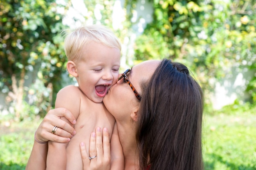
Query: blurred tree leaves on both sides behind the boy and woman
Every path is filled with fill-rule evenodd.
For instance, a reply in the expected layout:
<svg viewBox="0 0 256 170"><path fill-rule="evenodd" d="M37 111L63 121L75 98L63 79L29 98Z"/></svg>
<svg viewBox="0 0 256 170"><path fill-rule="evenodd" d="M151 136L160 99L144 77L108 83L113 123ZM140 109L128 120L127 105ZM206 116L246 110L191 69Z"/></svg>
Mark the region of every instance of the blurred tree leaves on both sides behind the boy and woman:
<svg viewBox="0 0 256 170"><path fill-rule="evenodd" d="M126 46L132 41L132 26L137 24L132 22L133 12L142 1L125 0L123 13L115 15L115 0L84 1L84 18L110 27ZM62 21L72 3L56 2L60 1L0 0L0 89L9 93L8 102L12 101L16 111L33 105L28 115L44 114L52 107L63 73L67 75L63 38L58 33L67 28ZM135 63L162 58L180 61L199 79L206 96L213 92L212 82L232 75L232 68L244 74L256 72L255 0L148 2L153 4L152 22L136 38L135 53L130 46L122 50L128 65L131 59ZM113 28L113 16L117 15L121 26ZM30 75L36 75L36 80L26 87L24 80ZM250 101L255 102L255 74L246 85Z"/></svg>

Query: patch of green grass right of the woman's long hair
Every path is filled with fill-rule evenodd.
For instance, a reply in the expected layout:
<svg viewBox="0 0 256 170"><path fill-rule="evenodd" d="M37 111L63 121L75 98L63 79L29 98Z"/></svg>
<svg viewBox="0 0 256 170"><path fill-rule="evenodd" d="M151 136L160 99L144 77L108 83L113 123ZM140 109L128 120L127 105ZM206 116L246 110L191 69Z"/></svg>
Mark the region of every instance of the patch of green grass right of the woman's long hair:
<svg viewBox="0 0 256 170"><path fill-rule="evenodd" d="M255 113L254 108L204 117L206 170L256 170Z"/></svg>

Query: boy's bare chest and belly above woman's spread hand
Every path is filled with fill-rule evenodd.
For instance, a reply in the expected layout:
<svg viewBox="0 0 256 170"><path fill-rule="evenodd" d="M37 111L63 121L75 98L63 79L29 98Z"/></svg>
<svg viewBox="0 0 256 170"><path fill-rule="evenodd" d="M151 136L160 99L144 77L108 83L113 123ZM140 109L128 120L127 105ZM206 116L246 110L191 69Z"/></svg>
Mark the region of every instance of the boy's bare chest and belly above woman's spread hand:
<svg viewBox="0 0 256 170"><path fill-rule="evenodd" d="M67 167L73 169L74 165L76 165L76 168L74 169L82 169L83 163L79 149L80 143L85 143L86 151L88 153L92 132L95 132L95 129L98 126L101 127L101 129L107 127L111 137L114 124L115 118L108 112L102 103L98 105L81 105L80 113L74 126L76 135L71 138L66 148Z"/></svg>

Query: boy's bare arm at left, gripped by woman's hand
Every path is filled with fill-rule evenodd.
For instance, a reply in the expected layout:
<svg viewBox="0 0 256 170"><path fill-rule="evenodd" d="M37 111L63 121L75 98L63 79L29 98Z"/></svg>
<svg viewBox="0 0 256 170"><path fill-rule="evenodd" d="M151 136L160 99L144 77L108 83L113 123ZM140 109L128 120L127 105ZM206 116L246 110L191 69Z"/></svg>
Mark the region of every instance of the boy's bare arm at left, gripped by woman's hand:
<svg viewBox="0 0 256 170"><path fill-rule="evenodd" d="M67 86L61 89L56 97L55 108L65 107L70 110L76 119L79 115L80 109L80 91L78 87ZM61 117L71 126L73 126L66 118ZM57 129L58 130L58 129ZM48 153L46 168L47 169L66 169L67 156L66 156L67 143L48 142Z"/></svg>

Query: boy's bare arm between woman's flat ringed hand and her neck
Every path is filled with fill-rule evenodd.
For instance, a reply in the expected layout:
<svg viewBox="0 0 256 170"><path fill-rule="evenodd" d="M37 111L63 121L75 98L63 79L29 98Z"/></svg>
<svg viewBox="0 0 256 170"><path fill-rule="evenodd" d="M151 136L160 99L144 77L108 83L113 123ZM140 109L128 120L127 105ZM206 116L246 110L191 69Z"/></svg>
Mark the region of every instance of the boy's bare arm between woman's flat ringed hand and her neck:
<svg viewBox="0 0 256 170"><path fill-rule="evenodd" d="M111 166L110 170L124 170L124 153L115 123L110 141Z"/></svg>

